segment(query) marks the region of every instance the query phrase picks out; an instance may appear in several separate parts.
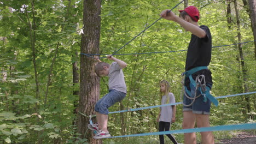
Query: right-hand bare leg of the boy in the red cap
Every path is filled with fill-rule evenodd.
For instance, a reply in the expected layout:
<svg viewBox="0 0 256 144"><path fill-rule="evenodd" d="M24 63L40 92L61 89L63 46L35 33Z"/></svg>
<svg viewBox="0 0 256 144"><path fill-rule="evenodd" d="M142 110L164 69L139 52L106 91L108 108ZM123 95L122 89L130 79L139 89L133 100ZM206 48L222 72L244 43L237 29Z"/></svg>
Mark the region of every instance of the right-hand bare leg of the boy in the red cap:
<svg viewBox="0 0 256 144"><path fill-rule="evenodd" d="M210 127L209 115L196 115L196 125L198 128ZM214 136L211 131L201 132L202 144L214 144Z"/></svg>

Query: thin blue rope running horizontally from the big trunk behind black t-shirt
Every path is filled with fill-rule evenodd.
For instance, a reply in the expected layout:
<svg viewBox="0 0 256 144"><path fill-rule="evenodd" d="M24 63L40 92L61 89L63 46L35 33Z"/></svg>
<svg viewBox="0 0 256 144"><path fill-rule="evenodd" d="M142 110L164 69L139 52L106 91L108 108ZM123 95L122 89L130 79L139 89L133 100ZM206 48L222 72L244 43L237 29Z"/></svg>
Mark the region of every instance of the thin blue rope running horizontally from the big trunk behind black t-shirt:
<svg viewBox="0 0 256 144"><path fill-rule="evenodd" d="M230 44L230 45L213 46L212 48L215 48L215 47L223 47L223 46L239 45L239 44L246 44L246 43L251 43L251 42L253 42L253 41L256 41L256 40L246 41L246 42L237 43L237 44ZM180 52L180 51L187 51L187 50L159 51L159 52L143 52L143 53L122 53L122 54L113 54L113 55L143 55L143 54L151 54L151 53L167 53L167 52ZM88 57L92 57L92 56L90 56L90 55L94 55L94 56L109 55L109 54L93 54L93 53L80 53L80 54L85 55L85 56L88 56ZM106 57L100 57L100 58L106 58Z"/></svg>

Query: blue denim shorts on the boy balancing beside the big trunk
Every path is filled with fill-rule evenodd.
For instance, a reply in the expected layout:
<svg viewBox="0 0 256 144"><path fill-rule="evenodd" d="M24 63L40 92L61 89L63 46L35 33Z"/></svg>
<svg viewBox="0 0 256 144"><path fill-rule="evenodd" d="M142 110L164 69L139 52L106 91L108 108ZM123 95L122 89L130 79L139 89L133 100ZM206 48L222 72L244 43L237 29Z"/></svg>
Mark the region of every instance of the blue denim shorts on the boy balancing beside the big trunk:
<svg viewBox="0 0 256 144"><path fill-rule="evenodd" d="M109 93L104 95L95 105L95 111L103 115L108 115L108 107L123 100L126 93L119 92L115 89L109 89Z"/></svg>

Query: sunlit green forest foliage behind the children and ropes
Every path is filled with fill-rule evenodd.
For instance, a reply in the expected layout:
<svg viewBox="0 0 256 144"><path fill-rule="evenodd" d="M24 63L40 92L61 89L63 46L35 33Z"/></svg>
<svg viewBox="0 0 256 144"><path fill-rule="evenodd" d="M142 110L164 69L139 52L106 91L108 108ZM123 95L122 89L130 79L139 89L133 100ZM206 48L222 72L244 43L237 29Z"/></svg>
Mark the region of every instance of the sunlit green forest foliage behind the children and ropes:
<svg viewBox="0 0 256 144"><path fill-rule="evenodd" d="M180 1L102 0L97 3L98 9L90 7L94 2L100 1L0 1L0 143L158 143L158 136L91 139L87 116L94 113L95 102L108 92L108 80L97 77L91 67L86 67L90 69L86 72L84 64L94 65L96 61L80 55L86 49L84 39L91 37L84 33L95 31L97 26L90 23L91 29L84 27L83 16L88 10L84 4L100 10L100 27L95 31L100 32L100 39L90 53L112 54L159 19L162 10L171 9ZM211 29L213 46L229 45L255 39L249 2L185 1L173 11L178 14L177 10L185 5L195 5L201 14L199 25ZM121 49L117 54L177 52L116 55L128 64L123 70L127 96L109 111L159 105L159 81L163 79L171 83L176 101L181 101L181 73L189 40L190 33L177 23L160 20ZM255 91L254 52L253 42L212 49L209 68L214 96ZM111 63L106 58L101 60ZM81 76L88 73L94 76L96 85ZM81 85L83 82L88 84ZM86 96L84 87L96 93ZM218 100L219 106L211 109L212 126L256 121L255 94ZM158 131L158 112L156 108L110 114L110 134ZM176 122L171 129L182 129L182 119L182 105L177 105ZM231 133L234 131L216 131L214 135L218 141ZM183 142L183 134L174 136ZM200 141L199 136L197 139Z"/></svg>

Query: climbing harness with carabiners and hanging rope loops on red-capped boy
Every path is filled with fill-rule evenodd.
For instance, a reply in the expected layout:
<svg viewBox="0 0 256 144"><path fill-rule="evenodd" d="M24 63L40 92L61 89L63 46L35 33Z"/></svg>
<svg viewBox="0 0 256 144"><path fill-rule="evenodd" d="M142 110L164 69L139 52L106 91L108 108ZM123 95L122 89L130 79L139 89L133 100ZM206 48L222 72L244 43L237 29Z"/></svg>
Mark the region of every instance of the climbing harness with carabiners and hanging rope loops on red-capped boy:
<svg viewBox="0 0 256 144"><path fill-rule="evenodd" d="M193 100L189 105L186 105L183 103L182 104L184 106L191 106L193 105L193 103L195 102L195 99L203 96L203 101L206 102L207 98L212 101L212 103L216 106L218 106L219 102L218 100L216 100L211 94L210 94L210 87L206 86L206 81L205 81L205 75L197 75L196 79L194 80L192 75L194 73L196 73L199 70L202 69L208 69L206 66L201 66L201 67L195 67L193 69L190 69L188 71L185 71L184 73L182 73L182 76L184 77L184 81L185 78L189 77L190 83L189 83L189 87L190 87L190 91L188 90L188 88L184 85L185 83L182 82L183 87L182 87L182 93L184 93L185 97L187 97L188 99ZM197 95L197 92L200 92L199 95ZM181 93L181 97L182 97L182 93Z"/></svg>

